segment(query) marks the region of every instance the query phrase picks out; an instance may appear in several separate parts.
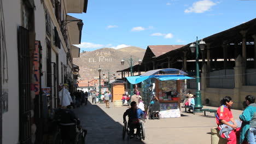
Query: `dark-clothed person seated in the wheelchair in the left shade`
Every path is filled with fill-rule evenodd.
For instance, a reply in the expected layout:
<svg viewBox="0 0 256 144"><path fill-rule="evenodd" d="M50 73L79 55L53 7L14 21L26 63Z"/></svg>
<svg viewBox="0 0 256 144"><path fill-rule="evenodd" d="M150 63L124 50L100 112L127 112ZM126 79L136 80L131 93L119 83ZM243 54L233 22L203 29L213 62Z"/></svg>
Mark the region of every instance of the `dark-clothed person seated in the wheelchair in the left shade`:
<svg viewBox="0 0 256 144"><path fill-rule="evenodd" d="M66 143L74 143L76 127L80 125L80 120L75 113L66 106L62 106L61 109L55 110L55 119L60 125L61 139Z"/></svg>

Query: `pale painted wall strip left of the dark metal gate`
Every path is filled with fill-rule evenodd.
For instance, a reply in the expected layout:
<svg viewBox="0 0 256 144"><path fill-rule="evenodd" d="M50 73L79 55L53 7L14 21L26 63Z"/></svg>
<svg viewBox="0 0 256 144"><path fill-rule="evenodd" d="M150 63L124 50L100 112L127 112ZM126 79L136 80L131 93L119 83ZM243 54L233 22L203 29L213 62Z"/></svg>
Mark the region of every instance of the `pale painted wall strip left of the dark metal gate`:
<svg viewBox="0 0 256 144"><path fill-rule="evenodd" d="M21 25L21 1L3 0L8 56L8 112L3 113L3 143L19 141L19 66L17 29Z"/></svg>

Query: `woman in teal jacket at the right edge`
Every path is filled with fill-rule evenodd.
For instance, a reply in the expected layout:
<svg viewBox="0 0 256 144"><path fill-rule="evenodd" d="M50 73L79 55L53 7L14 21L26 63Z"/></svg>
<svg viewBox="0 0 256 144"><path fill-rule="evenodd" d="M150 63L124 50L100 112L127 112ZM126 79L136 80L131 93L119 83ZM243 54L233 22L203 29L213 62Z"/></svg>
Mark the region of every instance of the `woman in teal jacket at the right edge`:
<svg viewBox="0 0 256 144"><path fill-rule="evenodd" d="M256 104L255 97L253 95L246 96L247 107L240 115L240 120L242 121L240 143L246 140L250 144L255 144L255 134L256 134Z"/></svg>

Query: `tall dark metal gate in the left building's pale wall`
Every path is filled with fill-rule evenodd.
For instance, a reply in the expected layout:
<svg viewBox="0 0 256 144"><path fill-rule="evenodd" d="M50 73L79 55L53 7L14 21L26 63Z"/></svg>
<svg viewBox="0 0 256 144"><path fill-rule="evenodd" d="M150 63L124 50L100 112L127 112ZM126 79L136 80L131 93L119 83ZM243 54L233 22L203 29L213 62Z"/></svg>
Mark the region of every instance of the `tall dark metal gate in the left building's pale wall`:
<svg viewBox="0 0 256 144"><path fill-rule="evenodd" d="M19 136L20 143L31 143L31 74L30 74L30 47L28 29L18 28L18 56L19 56Z"/></svg>

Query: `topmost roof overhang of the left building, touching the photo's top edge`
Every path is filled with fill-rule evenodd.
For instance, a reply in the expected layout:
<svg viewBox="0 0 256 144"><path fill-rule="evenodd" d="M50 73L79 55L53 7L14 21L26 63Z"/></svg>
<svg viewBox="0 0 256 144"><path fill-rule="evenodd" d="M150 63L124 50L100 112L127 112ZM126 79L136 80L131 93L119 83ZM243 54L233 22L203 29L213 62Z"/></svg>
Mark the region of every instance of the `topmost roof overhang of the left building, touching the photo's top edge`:
<svg viewBox="0 0 256 144"><path fill-rule="evenodd" d="M86 13L88 0L65 0L67 13Z"/></svg>

